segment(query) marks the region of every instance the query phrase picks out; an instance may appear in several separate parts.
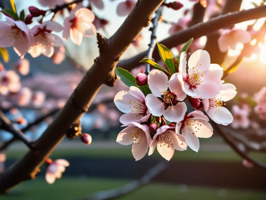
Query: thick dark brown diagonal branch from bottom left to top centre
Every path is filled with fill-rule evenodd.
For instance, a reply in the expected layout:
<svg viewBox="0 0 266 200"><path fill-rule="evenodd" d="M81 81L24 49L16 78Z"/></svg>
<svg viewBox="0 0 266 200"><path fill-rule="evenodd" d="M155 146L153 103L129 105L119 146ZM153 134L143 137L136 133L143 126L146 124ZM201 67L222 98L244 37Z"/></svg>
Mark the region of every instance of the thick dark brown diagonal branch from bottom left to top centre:
<svg viewBox="0 0 266 200"><path fill-rule="evenodd" d="M98 34L99 57L95 59L93 66L85 74L55 120L34 143L36 150L28 151L15 165L0 174L0 193L6 192L29 177L35 177L45 158L65 137L72 123L83 114L81 109L86 110L89 107L102 84L114 85L116 81L114 68L120 56L131 41L136 39L143 27L149 25L152 14L161 3L163 0L138 0L124 23L111 38L105 40Z"/></svg>

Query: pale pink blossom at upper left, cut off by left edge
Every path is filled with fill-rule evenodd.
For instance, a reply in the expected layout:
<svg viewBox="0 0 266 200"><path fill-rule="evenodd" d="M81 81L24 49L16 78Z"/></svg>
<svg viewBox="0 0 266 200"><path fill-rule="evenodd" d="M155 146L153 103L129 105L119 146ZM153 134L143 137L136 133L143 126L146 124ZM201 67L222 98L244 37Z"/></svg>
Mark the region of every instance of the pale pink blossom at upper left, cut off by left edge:
<svg viewBox="0 0 266 200"><path fill-rule="evenodd" d="M23 58L34 42L28 26L23 21L6 18L0 22L0 29L0 47L14 46L18 56Z"/></svg>

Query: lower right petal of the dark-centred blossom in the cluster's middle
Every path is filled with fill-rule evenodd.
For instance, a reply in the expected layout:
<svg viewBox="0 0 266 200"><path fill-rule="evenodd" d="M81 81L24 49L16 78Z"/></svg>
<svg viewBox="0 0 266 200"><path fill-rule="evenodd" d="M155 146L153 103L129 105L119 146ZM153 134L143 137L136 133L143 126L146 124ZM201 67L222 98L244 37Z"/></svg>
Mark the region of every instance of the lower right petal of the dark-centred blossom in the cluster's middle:
<svg viewBox="0 0 266 200"><path fill-rule="evenodd" d="M169 106L163 113L164 118L169 122L180 122L184 119L187 107L185 102L177 103L175 106Z"/></svg>

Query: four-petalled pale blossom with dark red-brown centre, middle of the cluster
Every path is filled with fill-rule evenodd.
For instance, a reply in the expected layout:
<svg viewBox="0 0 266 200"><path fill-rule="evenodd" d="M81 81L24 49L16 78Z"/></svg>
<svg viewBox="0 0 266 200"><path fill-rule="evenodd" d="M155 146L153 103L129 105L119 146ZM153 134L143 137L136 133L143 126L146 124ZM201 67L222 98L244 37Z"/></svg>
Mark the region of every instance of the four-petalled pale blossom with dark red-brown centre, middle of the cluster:
<svg viewBox="0 0 266 200"><path fill-rule="evenodd" d="M180 122L187 107L185 102L178 103L185 99L186 94L182 91L177 73L168 81L163 71L154 69L148 75L148 85L152 94L147 95L146 103L151 114L157 117L164 115L170 122Z"/></svg>

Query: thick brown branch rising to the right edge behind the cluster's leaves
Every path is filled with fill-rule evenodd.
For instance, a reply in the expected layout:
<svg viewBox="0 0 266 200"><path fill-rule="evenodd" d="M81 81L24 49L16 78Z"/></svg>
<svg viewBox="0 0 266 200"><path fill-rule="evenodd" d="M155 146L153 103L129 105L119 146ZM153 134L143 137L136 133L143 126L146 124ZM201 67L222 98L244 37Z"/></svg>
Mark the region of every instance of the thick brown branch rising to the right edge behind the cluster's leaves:
<svg viewBox="0 0 266 200"><path fill-rule="evenodd" d="M166 46L168 49L171 49L173 47L176 47L177 45L181 45L187 42L192 37L194 39L197 39L204 35L213 33L214 31L217 31L221 28L262 17L266 17L266 5L249 10L242 10L234 13L220 15L218 17L210 19L208 22L198 23L194 26L189 27L188 29L178 31L176 34L164 39L163 41L160 41L159 43ZM143 51L142 53L130 59L120 61L117 67L122 67L126 70L131 70L134 67L138 67L142 65L142 63L140 63L139 61L142 60L147 55L147 53L147 51ZM158 61L160 59L157 47L155 47L153 58L155 59L155 61Z"/></svg>

